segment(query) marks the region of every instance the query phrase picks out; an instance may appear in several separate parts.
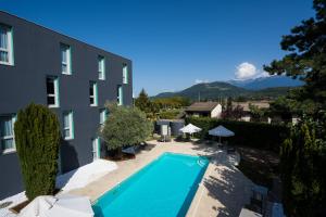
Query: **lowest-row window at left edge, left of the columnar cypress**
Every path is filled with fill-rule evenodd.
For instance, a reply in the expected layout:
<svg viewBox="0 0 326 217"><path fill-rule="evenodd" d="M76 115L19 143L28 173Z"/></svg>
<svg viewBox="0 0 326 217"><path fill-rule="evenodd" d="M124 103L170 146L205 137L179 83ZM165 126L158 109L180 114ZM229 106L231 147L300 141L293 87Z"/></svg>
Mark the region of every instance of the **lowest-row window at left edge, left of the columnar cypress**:
<svg viewBox="0 0 326 217"><path fill-rule="evenodd" d="M2 153L15 151L14 123L16 115L0 116L0 148Z"/></svg>

